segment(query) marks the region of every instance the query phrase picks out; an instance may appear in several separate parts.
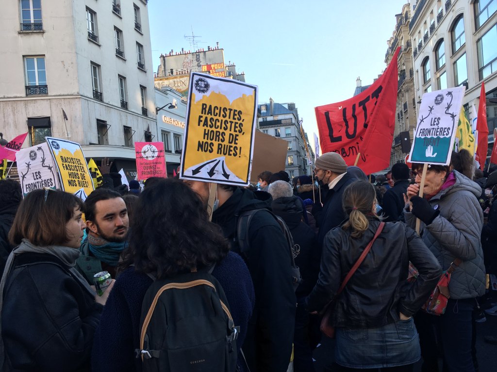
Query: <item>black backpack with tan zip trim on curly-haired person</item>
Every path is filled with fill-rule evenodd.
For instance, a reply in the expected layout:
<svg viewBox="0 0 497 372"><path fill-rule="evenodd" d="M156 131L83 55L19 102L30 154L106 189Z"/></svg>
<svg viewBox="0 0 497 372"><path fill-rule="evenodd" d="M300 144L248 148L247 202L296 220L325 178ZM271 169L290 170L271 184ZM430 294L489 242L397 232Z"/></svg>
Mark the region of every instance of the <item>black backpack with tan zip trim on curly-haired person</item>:
<svg viewBox="0 0 497 372"><path fill-rule="evenodd" d="M210 270L212 271L212 269ZM234 372L239 327L223 288L210 272L154 281L142 304L144 372Z"/></svg>

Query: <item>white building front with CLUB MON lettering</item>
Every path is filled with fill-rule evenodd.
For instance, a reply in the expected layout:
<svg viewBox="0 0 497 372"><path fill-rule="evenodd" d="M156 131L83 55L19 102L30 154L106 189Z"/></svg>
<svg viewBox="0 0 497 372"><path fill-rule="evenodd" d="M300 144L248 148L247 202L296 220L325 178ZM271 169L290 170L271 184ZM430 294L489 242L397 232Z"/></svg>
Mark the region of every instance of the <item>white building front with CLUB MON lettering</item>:
<svg viewBox="0 0 497 372"><path fill-rule="evenodd" d="M186 117L186 102L181 100L181 93L172 88L156 88L157 104L157 141L164 142L168 176L174 175L173 170L180 164L181 149Z"/></svg>

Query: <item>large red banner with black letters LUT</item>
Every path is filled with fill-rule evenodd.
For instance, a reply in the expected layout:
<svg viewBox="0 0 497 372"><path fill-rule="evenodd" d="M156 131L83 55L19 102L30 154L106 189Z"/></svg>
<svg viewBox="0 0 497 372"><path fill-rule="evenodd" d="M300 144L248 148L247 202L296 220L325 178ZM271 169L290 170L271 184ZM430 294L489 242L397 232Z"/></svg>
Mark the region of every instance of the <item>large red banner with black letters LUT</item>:
<svg viewBox="0 0 497 372"><path fill-rule="evenodd" d="M369 88L348 100L316 107L322 153L334 151L347 165L371 174L390 164L397 104L397 56Z"/></svg>

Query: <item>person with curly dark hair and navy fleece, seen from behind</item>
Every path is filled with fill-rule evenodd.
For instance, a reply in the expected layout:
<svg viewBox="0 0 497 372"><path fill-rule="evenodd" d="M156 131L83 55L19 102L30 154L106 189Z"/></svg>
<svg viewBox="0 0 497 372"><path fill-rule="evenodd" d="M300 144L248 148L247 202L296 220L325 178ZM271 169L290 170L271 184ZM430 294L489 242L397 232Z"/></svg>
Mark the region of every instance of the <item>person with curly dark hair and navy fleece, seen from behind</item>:
<svg viewBox="0 0 497 372"><path fill-rule="evenodd" d="M229 249L220 228L208 221L201 199L187 185L164 179L146 187L136 205L129 248L95 334L93 371L141 371L135 349L142 302L153 283L150 276L171 278L213 264L212 275L240 325L237 345L242 345L254 303L253 285L245 262Z"/></svg>

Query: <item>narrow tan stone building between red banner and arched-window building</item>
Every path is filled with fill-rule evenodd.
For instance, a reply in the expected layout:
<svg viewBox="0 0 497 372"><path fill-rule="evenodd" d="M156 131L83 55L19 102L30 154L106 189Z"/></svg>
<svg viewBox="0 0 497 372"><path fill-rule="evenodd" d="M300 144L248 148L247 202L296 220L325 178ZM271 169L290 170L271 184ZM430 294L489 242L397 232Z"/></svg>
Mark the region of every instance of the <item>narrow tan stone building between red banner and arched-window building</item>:
<svg viewBox="0 0 497 372"><path fill-rule="evenodd" d="M385 63L388 65L398 47L401 48L397 58L399 82L397 90L397 107L395 112L394 141L390 156L390 167L395 163L405 162L406 153L402 151L401 132L408 131L413 137L416 127L416 99L414 93L413 47L409 35L411 21L411 4L408 2L402 7L402 12L395 16L396 27L385 54Z"/></svg>

